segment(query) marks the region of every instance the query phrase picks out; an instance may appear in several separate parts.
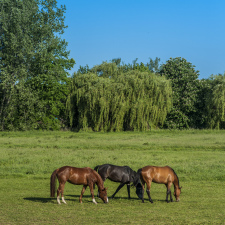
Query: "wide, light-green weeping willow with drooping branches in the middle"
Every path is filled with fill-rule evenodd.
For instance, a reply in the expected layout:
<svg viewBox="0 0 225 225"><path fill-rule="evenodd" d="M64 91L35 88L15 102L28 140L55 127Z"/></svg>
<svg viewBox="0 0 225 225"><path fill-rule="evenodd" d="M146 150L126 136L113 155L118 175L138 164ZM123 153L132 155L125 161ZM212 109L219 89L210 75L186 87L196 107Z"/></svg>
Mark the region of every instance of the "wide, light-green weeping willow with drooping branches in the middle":
<svg viewBox="0 0 225 225"><path fill-rule="evenodd" d="M74 75L67 99L72 128L144 131L164 123L172 105L168 80L140 71L105 77L98 73Z"/></svg>

